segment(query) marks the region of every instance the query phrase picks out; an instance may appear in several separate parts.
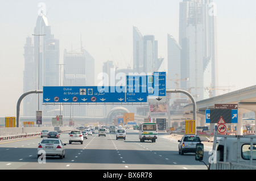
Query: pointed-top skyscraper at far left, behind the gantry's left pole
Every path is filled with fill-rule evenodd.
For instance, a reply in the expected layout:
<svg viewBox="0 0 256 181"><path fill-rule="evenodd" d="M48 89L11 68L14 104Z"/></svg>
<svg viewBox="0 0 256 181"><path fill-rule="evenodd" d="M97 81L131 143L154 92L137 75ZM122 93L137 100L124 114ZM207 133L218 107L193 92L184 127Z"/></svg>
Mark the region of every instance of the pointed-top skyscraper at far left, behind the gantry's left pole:
<svg viewBox="0 0 256 181"><path fill-rule="evenodd" d="M34 47L31 38L27 38L24 47L24 92L43 90L43 86L59 86L60 83L59 40L51 34L51 27L43 11L38 15L33 35ZM42 106L42 95L28 98L24 99L24 116L35 116L38 108L43 111L43 116L57 115L56 106Z"/></svg>

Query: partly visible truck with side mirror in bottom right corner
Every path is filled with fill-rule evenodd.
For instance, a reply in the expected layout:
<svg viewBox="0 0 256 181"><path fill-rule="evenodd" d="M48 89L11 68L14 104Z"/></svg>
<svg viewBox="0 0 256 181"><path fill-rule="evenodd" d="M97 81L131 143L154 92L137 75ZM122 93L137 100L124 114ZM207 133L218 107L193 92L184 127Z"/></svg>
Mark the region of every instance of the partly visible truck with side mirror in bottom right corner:
<svg viewBox="0 0 256 181"><path fill-rule="evenodd" d="M203 144L196 145L196 160L203 162ZM214 133L209 170L256 170L256 136Z"/></svg>

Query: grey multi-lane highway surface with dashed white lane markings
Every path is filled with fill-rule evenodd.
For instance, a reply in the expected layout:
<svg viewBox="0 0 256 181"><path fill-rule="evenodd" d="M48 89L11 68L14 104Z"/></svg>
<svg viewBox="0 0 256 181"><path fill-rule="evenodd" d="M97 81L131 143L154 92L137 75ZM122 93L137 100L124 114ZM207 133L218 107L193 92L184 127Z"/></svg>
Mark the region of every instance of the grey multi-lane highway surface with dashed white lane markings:
<svg viewBox="0 0 256 181"><path fill-rule="evenodd" d="M108 130L108 129L107 129ZM140 142L138 131L127 129L126 140L115 140L107 132L98 137L97 131L83 144L68 144L68 133L61 133L65 144L65 158L47 157L39 163L39 136L0 141L1 170L206 170L204 163L195 161L195 154L178 154L178 142L159 133L155 143ZM208 163L205 151L204 161Z"/></svg>

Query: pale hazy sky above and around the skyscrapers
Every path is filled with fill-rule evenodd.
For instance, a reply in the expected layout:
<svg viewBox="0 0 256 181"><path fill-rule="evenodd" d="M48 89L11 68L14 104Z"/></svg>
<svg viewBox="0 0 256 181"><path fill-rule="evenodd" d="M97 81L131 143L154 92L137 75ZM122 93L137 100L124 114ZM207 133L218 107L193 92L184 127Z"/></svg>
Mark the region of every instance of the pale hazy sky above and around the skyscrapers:
<svg viewBox="0 0 256 181"><path fill-rule="evenodd" d="M104 61L113 60L119 68L133 65L133 26L142 35L155 36L164 67L167 33L178 41L181 0L0 1L0 117L16 116L16 103L23 94L24 45L34 33L40 2L46 5L52 34L60 40L60 62L64 48L80 48L82 35L82 44L96 63L96 82ZM230 91L256 85L256 1L214 3L218 85L230 86Z"/></svg>

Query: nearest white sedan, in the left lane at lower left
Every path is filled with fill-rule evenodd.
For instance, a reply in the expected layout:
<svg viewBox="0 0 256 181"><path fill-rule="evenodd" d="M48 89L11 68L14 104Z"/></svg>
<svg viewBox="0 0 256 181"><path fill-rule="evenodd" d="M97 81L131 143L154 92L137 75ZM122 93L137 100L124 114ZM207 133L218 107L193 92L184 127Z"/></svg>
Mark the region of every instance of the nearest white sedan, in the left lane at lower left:
<svg viewBox="0 0 256 181"><path fill-rule="evenodd" d="M38 158L42 154L46 156L58 156L60 159L65 158L65 146L60 139L44 138L38 145Z"/></svg>

